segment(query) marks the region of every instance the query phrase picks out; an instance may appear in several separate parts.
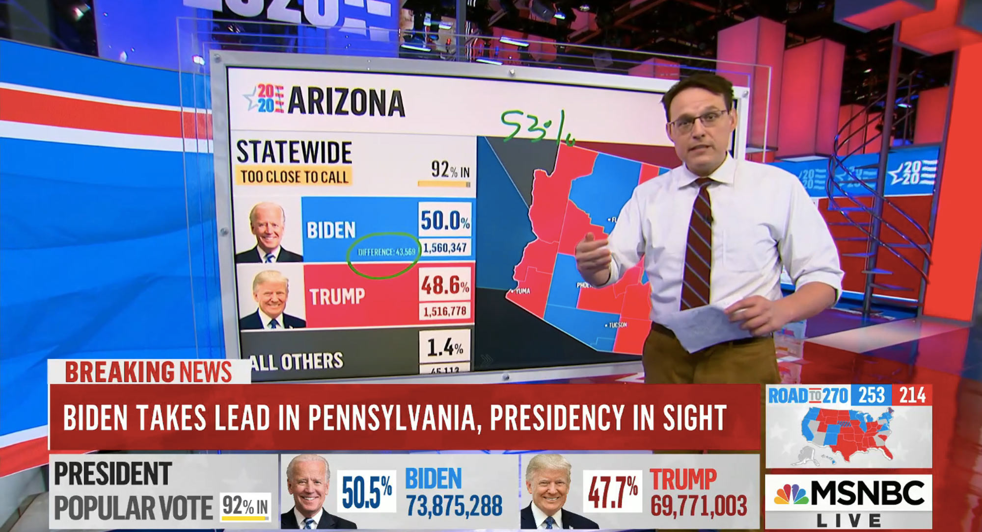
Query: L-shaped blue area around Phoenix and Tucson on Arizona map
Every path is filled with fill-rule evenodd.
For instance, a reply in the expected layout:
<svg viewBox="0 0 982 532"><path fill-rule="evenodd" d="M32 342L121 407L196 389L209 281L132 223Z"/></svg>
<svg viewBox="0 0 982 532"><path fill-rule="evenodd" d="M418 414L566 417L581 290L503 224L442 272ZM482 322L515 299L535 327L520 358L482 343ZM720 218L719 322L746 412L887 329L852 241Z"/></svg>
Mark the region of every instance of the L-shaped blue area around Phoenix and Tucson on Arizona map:
<svg viewBox="0 0 982 532"><path fill-rule="evenodd" d="M582 281L576 271L576 259L571 255L557 255L543 319L587 346L600 351L612 351L617 328L611 324L619 322L621 316L576 308L579 298L576 284Z"/></svg>

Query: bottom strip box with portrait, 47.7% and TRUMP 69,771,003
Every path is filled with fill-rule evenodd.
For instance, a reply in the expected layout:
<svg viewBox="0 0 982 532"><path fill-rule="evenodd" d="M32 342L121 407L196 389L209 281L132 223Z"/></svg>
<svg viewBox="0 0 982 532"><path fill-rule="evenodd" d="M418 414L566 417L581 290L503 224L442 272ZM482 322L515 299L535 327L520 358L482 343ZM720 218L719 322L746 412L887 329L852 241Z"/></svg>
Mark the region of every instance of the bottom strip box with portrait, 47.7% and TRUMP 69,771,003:
<svg viewBox="0 0 982 532"><path fill-rule="evenodd" d="M760 526L760 457L756 454L540 456L521 455L520 505L530 513L530 505L552 504L548 499L543 502L552 494L548 482L555 480L549 478L546 465L568 463L572 478L559 490L568 492L559 501L565 503L564 528ZM574 515L567 519L567 512ZM524 524L522 528L535 528Z"/></svg>

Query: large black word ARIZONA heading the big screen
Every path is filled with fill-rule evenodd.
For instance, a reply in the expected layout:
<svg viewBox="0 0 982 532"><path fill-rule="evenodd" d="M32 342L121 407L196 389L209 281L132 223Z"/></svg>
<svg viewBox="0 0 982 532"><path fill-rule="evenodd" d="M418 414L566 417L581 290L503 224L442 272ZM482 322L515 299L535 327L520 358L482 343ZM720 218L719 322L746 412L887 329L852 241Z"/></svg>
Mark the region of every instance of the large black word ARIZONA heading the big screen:
<svg viewBox="0 0 982 532"><path fill-rule="evenodd" d="M403 105L403 92L398 88L387 91L384 88L346 88L295 85L290 93L290 107L287 113L309 115L368 115L391 117L398 114L406 117Z"/></svg>

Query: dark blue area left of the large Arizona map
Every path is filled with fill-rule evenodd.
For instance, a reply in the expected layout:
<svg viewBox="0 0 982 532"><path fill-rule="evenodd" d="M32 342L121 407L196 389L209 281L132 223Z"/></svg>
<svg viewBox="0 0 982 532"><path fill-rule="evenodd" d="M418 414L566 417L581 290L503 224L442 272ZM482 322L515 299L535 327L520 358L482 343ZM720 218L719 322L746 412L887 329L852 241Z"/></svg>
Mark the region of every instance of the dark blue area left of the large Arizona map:
<svg viewBox="0 0 982 532"><path fill-rule="evenodd" d="M528 205L518 192L491 144L477 137L477 207L474 218L481 224L476 236L477 286L482 289L516 288L515 265L525 245L535 239Z"/></svg>

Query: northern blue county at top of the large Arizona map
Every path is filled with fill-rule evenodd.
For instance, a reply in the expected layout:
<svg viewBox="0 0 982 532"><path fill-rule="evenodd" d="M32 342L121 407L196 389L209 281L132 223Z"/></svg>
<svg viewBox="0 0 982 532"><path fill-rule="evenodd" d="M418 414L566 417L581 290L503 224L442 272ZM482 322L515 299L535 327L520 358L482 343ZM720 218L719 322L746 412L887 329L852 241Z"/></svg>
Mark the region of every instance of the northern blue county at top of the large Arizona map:
<svg viewBox="0 0 982 532"><path fill-rule="evenodd" d="M570 199L590 216L590 223L610 234L614 220L641 179L641 163L606 153L597 155L593 173L573 180Z"/></svg>

